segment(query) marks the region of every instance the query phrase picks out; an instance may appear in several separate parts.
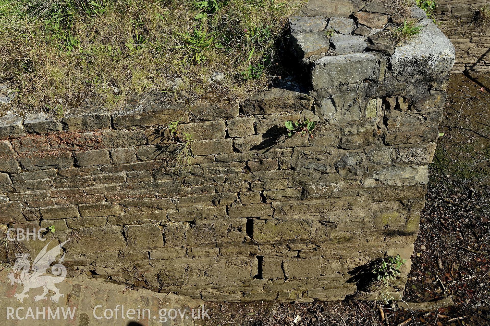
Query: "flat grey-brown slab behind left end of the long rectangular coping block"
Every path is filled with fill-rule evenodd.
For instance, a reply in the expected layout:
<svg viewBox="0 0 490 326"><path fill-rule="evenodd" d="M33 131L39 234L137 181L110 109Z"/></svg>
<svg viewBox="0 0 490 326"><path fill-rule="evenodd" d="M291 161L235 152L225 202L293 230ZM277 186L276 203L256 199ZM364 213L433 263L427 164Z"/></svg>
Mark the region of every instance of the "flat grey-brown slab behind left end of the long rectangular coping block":
<svg viewBox="0 0 490 326"><path fill-rule="evenodd" d="M299 60L326 53L330 48L329 38L324 32L293 33L293 49Z"/></svg>

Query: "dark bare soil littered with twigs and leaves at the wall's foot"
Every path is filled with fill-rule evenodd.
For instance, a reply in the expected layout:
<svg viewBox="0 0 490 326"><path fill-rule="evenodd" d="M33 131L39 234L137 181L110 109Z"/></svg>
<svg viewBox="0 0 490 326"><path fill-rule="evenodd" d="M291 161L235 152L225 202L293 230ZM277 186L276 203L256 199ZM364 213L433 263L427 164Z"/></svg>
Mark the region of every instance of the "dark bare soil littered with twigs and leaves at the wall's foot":
<svg viewBox="0 0 490 326"><path fill-rule="evenodd" d="M403 301L452 296L433 312L396 304L208 304L203 326L490 325L490 74L454 75L448 87L426 205Z"/></svg>

